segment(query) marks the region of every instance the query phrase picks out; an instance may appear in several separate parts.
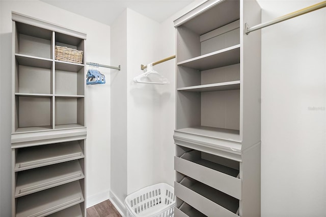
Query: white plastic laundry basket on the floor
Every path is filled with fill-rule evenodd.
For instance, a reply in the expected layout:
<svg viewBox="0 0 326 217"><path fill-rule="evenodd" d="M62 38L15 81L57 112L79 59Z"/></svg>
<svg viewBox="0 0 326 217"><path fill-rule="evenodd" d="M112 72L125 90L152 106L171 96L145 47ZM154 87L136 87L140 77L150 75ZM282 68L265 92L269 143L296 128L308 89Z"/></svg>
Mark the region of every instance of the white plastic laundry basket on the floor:
<svg viewBox="0 0 326 217"><path fill-rule="evenodd" d="M174 188L166 183L144 187L125 199L127 217L169 217L174 214Z"/></svg>

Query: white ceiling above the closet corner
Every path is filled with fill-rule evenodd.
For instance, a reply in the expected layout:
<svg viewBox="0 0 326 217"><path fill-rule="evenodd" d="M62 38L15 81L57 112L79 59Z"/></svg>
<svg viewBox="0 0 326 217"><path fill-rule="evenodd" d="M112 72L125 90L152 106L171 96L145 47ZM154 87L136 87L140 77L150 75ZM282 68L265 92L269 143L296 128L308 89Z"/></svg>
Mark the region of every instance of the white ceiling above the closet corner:
<svg viewBox="0 0 326 217"><path fill-rule="evenodd" d="M157 22L164 21L185 6L198 0L41 0L72 13L111 25L126 9Z"/></svg>

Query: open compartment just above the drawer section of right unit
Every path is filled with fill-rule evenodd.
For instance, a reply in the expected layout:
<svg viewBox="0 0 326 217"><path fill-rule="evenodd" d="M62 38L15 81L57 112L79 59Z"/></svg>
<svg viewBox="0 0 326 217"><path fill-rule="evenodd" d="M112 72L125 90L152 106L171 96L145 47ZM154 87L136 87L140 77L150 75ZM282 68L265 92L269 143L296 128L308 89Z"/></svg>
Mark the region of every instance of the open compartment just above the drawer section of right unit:
<svg viewBox="0 0 326 217"><path fill-rule="evenodd" d="M189 127L213 127L216 132L222 128L231 134L239 133L240 90L178 91L176 130Z"/></svg>

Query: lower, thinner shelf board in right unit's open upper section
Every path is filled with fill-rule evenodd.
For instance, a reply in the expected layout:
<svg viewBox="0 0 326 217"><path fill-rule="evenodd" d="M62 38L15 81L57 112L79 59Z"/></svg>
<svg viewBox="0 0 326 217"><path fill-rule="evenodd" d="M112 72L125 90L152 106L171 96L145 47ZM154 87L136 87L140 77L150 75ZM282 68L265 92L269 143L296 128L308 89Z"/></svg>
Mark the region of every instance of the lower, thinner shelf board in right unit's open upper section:
<svg viewBox="0 0 326 217"><path fill-rule="evenodd" d="M198 85L192 87L177 88L178 91L194 91L194 92L208 92L208 91L226 91L239 90L240 80L234 82L223 82L209 85Z"/></svg>

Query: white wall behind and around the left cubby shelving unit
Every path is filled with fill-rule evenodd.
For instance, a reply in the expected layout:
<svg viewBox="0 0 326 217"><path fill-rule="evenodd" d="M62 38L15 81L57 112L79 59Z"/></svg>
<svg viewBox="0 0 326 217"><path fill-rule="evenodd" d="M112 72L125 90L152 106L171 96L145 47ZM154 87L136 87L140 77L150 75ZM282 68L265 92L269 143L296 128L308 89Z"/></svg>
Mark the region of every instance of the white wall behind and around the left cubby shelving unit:
<svg viewBox="0 0 326 217"><path fill-rule="evenodd" d="M0 1L1 79L0 79L0 172L1 213L11 211L11 11L56 23L87 33L86 60L110 65L110 26L50 6L40 1ZM101 68L110 80L110 70ZM6 78L6 79L5 79ZM110 82L87 87L87 205L108 198L110 188Z"/></svg>

